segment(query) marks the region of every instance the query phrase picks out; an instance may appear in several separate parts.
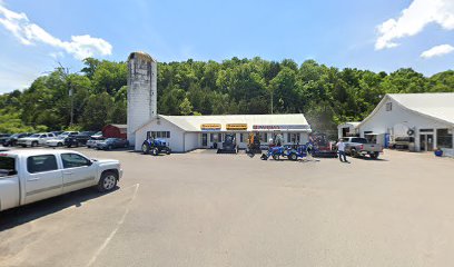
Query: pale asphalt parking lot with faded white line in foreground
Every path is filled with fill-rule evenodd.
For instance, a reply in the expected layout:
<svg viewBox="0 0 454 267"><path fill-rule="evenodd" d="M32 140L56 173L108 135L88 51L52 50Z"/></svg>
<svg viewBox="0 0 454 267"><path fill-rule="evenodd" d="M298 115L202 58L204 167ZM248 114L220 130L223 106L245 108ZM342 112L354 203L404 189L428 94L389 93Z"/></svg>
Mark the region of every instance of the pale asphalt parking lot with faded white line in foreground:
<svg viewBox="0 0 454 267"><path fill-rule="evenodd" d="M454 159L120 159L119 188L0 212L0 266L452 266Z"/></svg>

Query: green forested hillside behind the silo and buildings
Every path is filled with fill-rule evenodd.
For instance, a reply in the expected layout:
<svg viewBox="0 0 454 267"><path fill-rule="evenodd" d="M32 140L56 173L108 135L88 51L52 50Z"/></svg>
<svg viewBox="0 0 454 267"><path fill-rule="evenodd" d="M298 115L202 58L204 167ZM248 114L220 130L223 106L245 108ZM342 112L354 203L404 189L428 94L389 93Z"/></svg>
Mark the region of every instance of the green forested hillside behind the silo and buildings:
<svg viewBox="0 0 454 267"><path fill-rule="evenodd" d="M127 66L88 58L77 73L57 68L23 90L0 96L0 132L59 130L70 125L98 130L126 122ZM1 86L1 85L0 85ZM303 112L313 128L335 129L362 120L384 93L454 91L454 71L430 78L413 69L392 73L343 69L307 60L280 62L233 58L223 62L158 65L158 112L221 115Z"/></svg>

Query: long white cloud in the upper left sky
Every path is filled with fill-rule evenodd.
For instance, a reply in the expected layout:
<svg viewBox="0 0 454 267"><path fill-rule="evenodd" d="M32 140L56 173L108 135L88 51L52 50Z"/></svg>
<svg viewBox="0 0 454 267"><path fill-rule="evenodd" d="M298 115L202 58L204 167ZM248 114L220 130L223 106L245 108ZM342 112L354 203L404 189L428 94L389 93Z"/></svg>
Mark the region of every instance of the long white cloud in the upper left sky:
<svg viewBox="0 0 454 267"><path fill-rule="evenodd" d="M0 0L0 24L10 31L22 44L31 46L38 42L63 49L76 59L85 59L96 55L111 55L112 46L103 39L89 34L72 36L71 41L62 41L45 29L30 22L27 14L8 10Z"/></svg>

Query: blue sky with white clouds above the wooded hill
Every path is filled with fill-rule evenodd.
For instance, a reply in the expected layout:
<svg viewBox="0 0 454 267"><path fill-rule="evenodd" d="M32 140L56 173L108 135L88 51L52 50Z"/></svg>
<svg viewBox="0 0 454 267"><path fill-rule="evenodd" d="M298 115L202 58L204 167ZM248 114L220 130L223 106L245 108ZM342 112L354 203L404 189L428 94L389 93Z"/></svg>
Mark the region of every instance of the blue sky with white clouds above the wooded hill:
<svg viewBox="0 0 454 267"><path fill-rule="evenodd" d="M132 51L432 76L454 69L454 0L0 0L0 93Z"/></svg>

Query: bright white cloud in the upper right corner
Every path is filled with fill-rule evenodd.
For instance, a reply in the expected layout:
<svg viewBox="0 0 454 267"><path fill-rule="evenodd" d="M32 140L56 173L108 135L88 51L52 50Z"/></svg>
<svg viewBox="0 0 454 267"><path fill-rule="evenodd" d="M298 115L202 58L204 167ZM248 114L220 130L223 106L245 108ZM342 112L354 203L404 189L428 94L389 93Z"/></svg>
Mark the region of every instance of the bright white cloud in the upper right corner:
<svg viewBox="0 0 454 267"><path fill-rule="evenodd" d="M377 27L375 49L398 46L396 39L420 33L428 23L437 23L445 30L454 30L453 0L414 0L397 19L388 19Z"/></svg>

